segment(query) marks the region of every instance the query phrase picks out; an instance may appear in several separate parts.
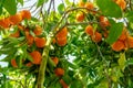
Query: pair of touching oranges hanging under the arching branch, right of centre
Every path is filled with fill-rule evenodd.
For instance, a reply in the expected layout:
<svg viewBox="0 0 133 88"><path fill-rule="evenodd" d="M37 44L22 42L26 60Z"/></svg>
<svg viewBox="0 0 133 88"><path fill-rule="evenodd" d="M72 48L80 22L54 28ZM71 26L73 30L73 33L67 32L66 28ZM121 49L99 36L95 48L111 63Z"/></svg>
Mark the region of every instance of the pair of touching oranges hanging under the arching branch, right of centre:
<svg viewBox="0 0 133 88"><path fill-rule="evenodd" d="M89 34L92 41L95 43L99 43L102 41L102 34L99 33L98 31L94 32L93 26L90 24L85 28L85 33Z"/></svg>

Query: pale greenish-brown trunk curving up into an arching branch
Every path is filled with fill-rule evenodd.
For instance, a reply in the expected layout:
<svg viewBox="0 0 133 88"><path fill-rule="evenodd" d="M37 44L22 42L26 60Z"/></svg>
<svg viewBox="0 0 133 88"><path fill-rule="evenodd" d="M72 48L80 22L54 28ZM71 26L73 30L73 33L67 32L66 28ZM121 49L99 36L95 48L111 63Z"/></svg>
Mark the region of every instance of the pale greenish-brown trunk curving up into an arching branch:
<svg viewBox="0 0 133 88"><path fill-rule="evenodd" d="M57 34L57 32L61 30L61 29L58 29L58 28L60 26L60 24L62 23L63 19L65 19L65 16L66 16L66 14L69 12L76 11L76 10L80 10L80 9L89 10L86 8L73 8L73 9L70 9L70 10L65 11L63 13L62 18L60 19L60 21L58 22L58 24L49 33L49 36L48 36L48 40L47 40L47 44L45 44L45 47L43 48L43 53L42 53L42 61L41 61L40 68L39 68L39 74L38 74L38 79L37 79L35 88L43 88L43 82L44 82L45 68L47 68L47 62L48 62L48 57L49 57L50 45L51 45L52 40L53 40L54 35ZM92 10L89 10L89 11L92 11Z"/></svg>

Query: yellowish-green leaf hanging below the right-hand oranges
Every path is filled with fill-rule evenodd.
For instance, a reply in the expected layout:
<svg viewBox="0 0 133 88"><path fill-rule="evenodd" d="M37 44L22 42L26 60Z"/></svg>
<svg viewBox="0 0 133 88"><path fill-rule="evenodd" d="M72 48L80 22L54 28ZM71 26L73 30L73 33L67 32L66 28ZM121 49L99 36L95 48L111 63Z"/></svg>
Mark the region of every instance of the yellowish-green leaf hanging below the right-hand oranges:
<svg viewBox="0 0 133 88"><path fill-rule="evenodd" d="M124 68L125 68L125 62L126 62L125 53L121 53L117 63L122 70L124 70Z"/></svg>

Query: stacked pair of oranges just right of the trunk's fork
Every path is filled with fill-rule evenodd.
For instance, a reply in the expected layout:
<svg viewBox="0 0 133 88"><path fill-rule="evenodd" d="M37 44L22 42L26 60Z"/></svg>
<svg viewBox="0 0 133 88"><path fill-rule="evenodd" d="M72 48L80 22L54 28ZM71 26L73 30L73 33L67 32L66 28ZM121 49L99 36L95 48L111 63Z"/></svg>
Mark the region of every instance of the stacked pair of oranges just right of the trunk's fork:
<svg viewBox="0 0 133 88"><path fill-rule="evenodd" d="M57 33L55 40L53 40L53 43L57 43L59 46L64 46L66 44L66 35L68 35L68 28L64 26L62 30L60 30Z"/></svg>

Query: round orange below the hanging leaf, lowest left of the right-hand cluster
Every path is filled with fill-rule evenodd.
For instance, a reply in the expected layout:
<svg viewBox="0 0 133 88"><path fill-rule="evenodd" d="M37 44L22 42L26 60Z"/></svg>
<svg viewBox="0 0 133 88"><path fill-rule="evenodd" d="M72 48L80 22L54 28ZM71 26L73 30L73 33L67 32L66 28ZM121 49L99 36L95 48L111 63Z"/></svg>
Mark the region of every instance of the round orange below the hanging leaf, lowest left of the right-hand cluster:
<svg viewBox="0 0 133 88"><path fill-rule="evenodd" d="M112 50L115 52L120 52L125 48L124 42L122 41L116 41L115 43L112 44Z"/></svg>

